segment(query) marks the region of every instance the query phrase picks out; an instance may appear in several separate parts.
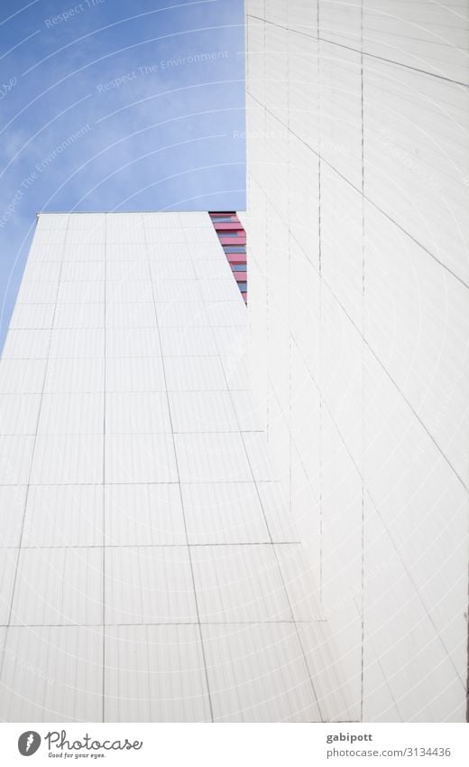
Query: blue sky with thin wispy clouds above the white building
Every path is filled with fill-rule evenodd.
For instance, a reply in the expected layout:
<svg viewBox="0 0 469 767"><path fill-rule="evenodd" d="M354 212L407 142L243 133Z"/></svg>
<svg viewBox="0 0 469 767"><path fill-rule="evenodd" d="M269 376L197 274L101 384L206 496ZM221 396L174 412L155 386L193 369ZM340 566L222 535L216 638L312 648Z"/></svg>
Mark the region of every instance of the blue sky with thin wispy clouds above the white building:
<svg viewBox="0 0 469 767"><path fill-rule="evenodd" d="M244 210L243 0L2 0L0 349L41 210Z"/></svg>

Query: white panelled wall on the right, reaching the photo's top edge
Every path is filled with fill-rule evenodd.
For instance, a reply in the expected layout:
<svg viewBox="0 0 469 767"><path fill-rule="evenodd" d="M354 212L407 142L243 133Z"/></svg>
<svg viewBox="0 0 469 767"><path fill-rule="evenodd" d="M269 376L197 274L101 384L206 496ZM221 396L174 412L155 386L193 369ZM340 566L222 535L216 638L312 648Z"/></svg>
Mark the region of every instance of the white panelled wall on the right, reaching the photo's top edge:
<svg viewBox="0 0 469 767"><path fill-rule="evenodd" d="M462 721L468 9L246 5L253 376L352 717Z"/></svg>

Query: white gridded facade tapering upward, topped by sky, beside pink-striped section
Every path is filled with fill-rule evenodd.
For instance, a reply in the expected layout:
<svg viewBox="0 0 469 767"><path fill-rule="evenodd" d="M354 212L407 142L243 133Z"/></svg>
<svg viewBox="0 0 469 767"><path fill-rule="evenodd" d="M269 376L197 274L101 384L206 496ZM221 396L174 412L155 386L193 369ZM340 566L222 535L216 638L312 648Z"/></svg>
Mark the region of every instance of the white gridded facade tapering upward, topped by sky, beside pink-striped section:
<svg viewBox="0 0 469 767"><path fill-rule="evenodd" d="M346 715L207 213L40 215L0 362L0 719Z"/></svg>

